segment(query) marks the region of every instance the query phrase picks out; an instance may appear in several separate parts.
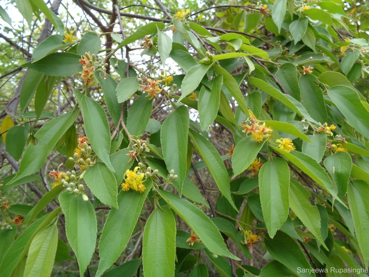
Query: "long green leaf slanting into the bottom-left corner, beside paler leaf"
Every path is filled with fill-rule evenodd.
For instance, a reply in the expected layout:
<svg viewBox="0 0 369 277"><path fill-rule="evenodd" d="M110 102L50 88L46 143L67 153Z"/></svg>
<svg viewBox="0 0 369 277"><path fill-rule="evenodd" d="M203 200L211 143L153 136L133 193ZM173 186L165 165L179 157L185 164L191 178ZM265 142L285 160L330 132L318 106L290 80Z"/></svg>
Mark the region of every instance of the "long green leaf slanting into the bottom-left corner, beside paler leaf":
<svg viewBox="0 0 369 277"><path fill-rule="evenodd" d="M27 254L32 239L37 235L38 231L45 226L50 225L51 221L56 220L60 208L44 215L42 218L34 222L30 227L25 229L17 239L11 244L10 248L1 261L0 272L3 276L11 276L13 270L17 267L23 257ZM15 228L14 228L15 229Z"/></svg>

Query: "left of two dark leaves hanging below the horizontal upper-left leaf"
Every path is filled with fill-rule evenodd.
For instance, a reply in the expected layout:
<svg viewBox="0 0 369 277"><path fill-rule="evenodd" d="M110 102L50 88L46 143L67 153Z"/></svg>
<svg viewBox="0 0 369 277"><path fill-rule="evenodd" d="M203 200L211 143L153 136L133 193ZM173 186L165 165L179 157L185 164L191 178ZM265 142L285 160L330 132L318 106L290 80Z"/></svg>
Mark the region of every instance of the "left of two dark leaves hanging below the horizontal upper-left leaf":
<svg viewBox="0 0 369 277"><path fill-rule="evenodd" d="M21 94L19 96L21 113L23 113L24 110L31 103L32 98L42 78L44 78L44 74L42 74L41 72L32 69L28 70L22 84Z"/></svg>

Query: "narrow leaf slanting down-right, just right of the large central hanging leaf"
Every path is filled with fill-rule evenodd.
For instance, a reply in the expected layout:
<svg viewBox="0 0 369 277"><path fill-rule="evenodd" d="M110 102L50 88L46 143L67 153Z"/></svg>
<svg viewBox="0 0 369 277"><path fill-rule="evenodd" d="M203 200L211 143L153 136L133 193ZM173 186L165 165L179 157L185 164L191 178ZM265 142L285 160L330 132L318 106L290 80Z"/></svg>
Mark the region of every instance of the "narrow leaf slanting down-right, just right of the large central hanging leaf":
<svg viewBox="0 0 369 277"><path fill-rule="evenodd" d="M189 130L189 135L192 138L197 151L199 151L201 158L203 158L207 168L217 183L218 188L225 198L227 198L227 200L230 202L232 207L238 211L231 196L230 181L228 178L227 169L225 168L223 160L220 157L217 149L215 149L213 144L211 144L210 141L208 141L205 137L191 129Z"/></svg>

